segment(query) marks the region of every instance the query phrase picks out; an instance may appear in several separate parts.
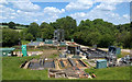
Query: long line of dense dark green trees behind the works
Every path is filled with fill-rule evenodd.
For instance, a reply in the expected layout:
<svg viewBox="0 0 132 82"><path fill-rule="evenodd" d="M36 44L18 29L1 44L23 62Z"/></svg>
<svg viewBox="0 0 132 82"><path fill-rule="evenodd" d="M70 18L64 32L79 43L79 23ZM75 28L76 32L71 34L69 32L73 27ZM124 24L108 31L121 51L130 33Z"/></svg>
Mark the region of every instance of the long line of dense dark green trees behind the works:
<svg viewBox="0 0 132 82"><path fill-rule="evenodd" d="M33 22L28 28L24 28L14 36L19 36L23 40L35 40L37 37L52 39L54 37L54 31L63 28L65 31L66 40L74 38L76 43L81 45L97 45L98 47L108 47L113 45L123 48L132 48L131 26L132 23L114 25L103 21L102 19L96 19L94 21L82 20L77 26L76 20L70 16L66 16L57 19L52 23L43 22L41 25ZM3 44L6 43L10 42L3 42ZM7 46L7 44L3 46Z"/></svg>

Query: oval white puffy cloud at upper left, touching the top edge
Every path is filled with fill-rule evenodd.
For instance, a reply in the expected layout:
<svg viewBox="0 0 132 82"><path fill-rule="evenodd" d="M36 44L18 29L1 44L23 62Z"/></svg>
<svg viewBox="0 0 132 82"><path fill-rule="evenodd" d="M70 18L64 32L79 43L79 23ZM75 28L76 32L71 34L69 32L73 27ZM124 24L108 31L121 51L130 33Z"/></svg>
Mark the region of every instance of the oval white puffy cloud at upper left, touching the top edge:
<svg viewBox="0 0 132 82"><path fill-rule="evenodd" d="M13 7L26 12L38 11L41 8L37 4L33 4L30 0L14 1Z"/></svg>

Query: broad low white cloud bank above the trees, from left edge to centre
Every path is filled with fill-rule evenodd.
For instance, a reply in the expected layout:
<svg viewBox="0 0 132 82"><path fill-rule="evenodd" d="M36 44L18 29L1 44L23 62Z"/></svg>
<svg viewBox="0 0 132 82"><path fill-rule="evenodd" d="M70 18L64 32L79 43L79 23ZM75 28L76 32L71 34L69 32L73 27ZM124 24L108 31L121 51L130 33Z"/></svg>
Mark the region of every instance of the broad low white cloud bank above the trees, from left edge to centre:
<svg viewBox="0 0 132 82"><path fill-rule="evenodd" d="M4 21L10 22L10 21L14 21L14 22L23 22L25 24L29 24L31 22L54 22L56 21L59 15L62 13L65 12L64 9L57 9L54 7L46 7L43 9L43 11L35 11L35 12L29 12L29 11L23 11L21 9L18 10L13 10L12 8L8 8L6 5L0 5L1 9L3 9L4 11L0 11L2 12L2 16L8 17L0 17L0 19L4 19Z"/></svg>

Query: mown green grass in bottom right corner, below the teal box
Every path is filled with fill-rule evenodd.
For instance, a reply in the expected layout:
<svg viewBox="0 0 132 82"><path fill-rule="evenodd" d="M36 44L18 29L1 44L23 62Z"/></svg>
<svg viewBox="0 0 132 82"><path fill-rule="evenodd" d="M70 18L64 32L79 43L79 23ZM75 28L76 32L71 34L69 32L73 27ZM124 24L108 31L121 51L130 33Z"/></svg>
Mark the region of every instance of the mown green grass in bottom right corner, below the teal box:
<svg viewBox="0 0 132 82"><path fill-rule="evenodd" d="M97 78L94 80L130 80L130 67L114 67L106 69L86 69L88 73L94 72Z"/></svg>

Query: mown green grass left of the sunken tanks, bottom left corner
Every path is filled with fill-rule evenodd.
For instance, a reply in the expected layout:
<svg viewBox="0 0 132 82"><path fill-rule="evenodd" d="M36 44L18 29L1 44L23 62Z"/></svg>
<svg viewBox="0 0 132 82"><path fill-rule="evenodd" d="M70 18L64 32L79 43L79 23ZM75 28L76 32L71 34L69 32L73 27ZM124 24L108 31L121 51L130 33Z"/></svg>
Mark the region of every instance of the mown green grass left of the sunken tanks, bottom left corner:
<svg viewBox="0 0 132 82"><path fill-rule="evenodd" d="M44 80L47 78L47 70L22 69L20 66L25 61L36 57L3 57L2 80Z"/></svg>

